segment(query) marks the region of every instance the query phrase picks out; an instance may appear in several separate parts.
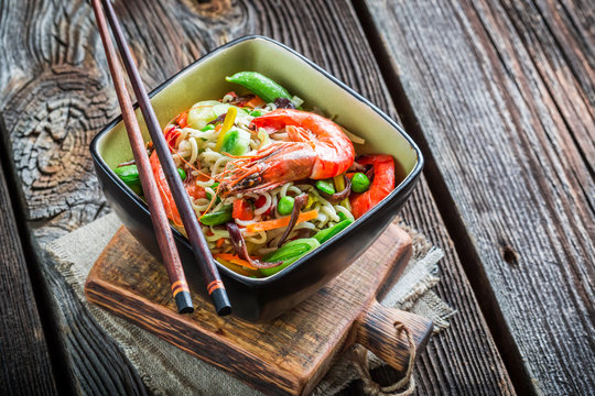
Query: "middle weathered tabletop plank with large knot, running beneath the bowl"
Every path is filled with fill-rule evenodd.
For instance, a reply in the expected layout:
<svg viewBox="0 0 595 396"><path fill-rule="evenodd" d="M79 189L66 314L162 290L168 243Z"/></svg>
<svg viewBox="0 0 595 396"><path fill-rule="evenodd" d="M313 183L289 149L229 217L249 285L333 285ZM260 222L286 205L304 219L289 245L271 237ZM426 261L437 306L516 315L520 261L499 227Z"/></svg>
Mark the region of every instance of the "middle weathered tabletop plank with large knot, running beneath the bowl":
<svg viewBox="0 0 595 396"><path fill-rule="evenodd" d="M259 33L309 56L397 119L349 3L151 0L117 1L115 7L128 37L133 37L131 45L148 87L219 44ZM31 22L24 25L24 20ZM9 121L25 198L33 202L30 226L43 243L109 210L91 173L87 144L116 114L116 97L86 2L0 0L0 111ZM40 175L43 183L36 182ZM446 250L444 282L437 293L458 312L453 327L433 338L420 356L415 373L420 394L510 394L513 391L489 330L428 186L423 182L422 186L407 205L404 217ZM43 271L54 293L55 320L69 329L64 349L75 388L79 393L144 392L122 353L106 342L52 263L45 263ZM385 382L396 377L385 369L376 374ZM360 393L358 384L345 392Z"/></svg>

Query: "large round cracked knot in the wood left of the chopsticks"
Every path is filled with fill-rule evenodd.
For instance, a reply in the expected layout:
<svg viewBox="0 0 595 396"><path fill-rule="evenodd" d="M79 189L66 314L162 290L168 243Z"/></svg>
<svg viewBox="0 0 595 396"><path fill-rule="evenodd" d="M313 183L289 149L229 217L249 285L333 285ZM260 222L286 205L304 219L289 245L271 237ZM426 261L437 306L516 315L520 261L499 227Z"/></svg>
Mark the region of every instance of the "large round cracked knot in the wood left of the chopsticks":
<svg viewBox="0 0 595 396"><path fill-rule="evenodd" d="M104 87L84 69L57 66L24 85L7 109L30 220L104 205L89 154L93 136L115 113Z"/></svg>

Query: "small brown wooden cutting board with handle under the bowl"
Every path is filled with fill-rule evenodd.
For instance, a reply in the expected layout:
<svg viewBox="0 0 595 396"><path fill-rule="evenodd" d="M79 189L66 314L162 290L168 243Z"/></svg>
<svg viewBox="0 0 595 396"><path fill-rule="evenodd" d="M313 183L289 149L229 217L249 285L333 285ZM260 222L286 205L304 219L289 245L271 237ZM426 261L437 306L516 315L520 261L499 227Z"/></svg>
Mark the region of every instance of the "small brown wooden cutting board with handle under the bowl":
<svg viewBox="0 0 595 396"><path fill-rule="evenodd" d="M218 317L193 294L196 311L178 315L165 270L123 228L95 263L85 285L87 299L167 342L274 395L310 393L337 353L360 343L398 371L407 369L409 344L394 322L422 348L432 322L386 308L377 294L401 274L411 239L391 224L349 268L292 310L267 323ZM386 287L385 287L386 288Z"/></svg>

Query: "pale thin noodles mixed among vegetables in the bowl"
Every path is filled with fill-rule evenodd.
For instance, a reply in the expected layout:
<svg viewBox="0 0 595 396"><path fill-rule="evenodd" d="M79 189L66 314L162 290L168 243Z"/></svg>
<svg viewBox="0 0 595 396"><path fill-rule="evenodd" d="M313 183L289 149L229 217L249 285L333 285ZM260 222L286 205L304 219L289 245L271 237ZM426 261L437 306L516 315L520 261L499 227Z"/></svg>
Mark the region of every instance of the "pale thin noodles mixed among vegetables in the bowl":
<svg viewBox="0 0 595 396"><path fill-rule="evenodd" d="M208 124L209 119L205 118L205 120L202 120L201 114L209 114L210 118L213 117L213 113L216 117L226 114L231 107L229 103L231 100L232 97L226 95L221 102L208 100L194 105L191 109L191 112L193 112L192 116L194 117L192 125L196 129L190 127L182 128L175 142L170 142L176 166L186 170L191 180L190 183L195 183L206 191L207 198L193 199L193 197L191 197L192 206L198 218L201 218L205 211L216 212L223 210L224 207L232 205L235 200L240 198L251 198L252 200L260 198L260 201L264 200L262 206L255 208L253 218L251 220L232 220L238 224L245 237L248 252L251 255L258 256L278 249L278 243L280 242L285 228L277 228L260 232L247 232L246 226L258 223L263 220L286 217L281 216L277 210L278 202L285 196L296 197L306 193L309 195L309 200L305 209L315 209L318 213L313 220L298 222L289 234L288 240L303 238L303 235L312 235L322 229L338 223L340 221L339 213L343 213L347 219L354 220L354 216L348 208L340 204L331 204L318 194L314 186L300 182L289 182L280 187L263 193L237 194L216 202L213 198L217 193L215 179L219 177L223 172L232 169L235 166L234 161L236 158L216 150L219 140L219 129L202 131L204 127ZM300 103L299 98L295 97L292 101ZM249 110L245 110L240 107L236 107L236 109L237 116L230 130L238 130L240 133L244 133L245 136L250 136L249 151L242 156L249 156L275 141L286 141L288 135L283 130L269 135L264 129L259 129L258 131L249 129L248 125L253 117L250 116ZM263 108L258 109L258 111L263 116L274 109L274 103L268 103ZM167 128L170 128L170 125ZM165 130L167 130L167 128ZM204 175L212 178L207 178ZM207 227L203 224L202 228L213 253L235 253L234 246L229 240L229 232L225 227ZM181 232L184 232L183 228L177 227L177 229Z"/></svg>

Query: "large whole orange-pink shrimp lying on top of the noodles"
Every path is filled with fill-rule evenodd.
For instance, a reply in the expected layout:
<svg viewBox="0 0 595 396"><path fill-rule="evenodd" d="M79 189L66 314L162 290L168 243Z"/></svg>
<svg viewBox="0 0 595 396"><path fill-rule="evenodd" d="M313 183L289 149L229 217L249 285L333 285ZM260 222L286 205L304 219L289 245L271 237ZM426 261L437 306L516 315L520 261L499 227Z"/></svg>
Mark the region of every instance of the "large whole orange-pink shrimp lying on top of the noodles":
<svg viewBox="0 0 595 396"><path fill-rule="evenodd" d="M234 162L220 179L221 195L264 191L286 182L325 179L351 166L354 145L340 128L324 117L293 109L271 111L252 120L273 133L285 129L288 142L275 142Z"/></svg>

